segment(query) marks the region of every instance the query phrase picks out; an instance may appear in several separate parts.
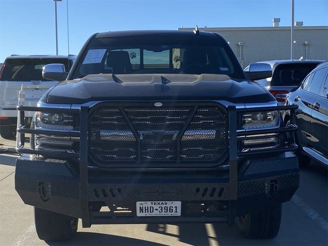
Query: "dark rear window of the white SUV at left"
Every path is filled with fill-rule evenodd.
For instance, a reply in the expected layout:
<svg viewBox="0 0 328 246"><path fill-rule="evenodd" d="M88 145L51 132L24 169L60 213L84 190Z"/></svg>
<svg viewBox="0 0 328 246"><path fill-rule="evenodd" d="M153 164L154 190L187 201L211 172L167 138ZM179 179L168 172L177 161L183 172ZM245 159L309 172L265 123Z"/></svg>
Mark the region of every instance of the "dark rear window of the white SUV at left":
<svg viewBox="0 0 328 246"><path fill-rule="evenodd" d="M6 59L0 80L48 81L48 79L42 77L42 68L51 63L64 64L66 71L69 71L69 59L65 58L12 58Z"/></svg>

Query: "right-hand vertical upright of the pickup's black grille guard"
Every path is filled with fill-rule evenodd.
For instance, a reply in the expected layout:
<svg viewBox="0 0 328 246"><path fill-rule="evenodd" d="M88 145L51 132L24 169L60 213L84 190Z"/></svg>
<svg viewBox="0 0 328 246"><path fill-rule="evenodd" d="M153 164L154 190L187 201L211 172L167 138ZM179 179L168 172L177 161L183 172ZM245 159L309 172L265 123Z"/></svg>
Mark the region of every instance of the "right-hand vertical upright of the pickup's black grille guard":
<svg viewBox="0 0 328 246"><path fill-rule="evenodd" d="M229 199L237 200L237 113L236 106L228 106L229 115Z"/></svg>

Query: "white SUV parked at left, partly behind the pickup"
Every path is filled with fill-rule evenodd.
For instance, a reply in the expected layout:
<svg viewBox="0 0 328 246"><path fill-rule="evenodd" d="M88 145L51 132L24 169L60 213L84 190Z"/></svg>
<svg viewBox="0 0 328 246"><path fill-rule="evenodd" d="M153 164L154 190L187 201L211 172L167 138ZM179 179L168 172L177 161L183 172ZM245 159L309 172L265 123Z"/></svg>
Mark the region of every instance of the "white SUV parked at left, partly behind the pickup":
<svg viewBox="0 0 328 246"><path fill-rule="evenodd" d="M58 81L44 79L42 68L47 64L64 64L68 72L75 55L12 55L0 69L0 134L3 138L16 135L18 91L23 85L25 106L36 106L37 101ZM25 115L27 124L32 112Z"/></svg>

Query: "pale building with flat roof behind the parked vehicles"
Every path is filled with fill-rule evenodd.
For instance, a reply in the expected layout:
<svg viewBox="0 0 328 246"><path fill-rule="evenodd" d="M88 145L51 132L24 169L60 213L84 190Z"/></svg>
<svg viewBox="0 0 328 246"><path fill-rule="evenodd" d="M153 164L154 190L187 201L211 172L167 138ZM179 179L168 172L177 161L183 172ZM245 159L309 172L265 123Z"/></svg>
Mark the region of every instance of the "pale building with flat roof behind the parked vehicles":
<svg viewBox="0 0 328 246"><path fill-rule="evenodd" d="M299 24L299 23L298 23ZM229 42L243 68L262 60L291 58L291 27L206 27ZM178 28L193 30L194 28ZM294 59L328 60L328 26L296 26Z"/></svg>

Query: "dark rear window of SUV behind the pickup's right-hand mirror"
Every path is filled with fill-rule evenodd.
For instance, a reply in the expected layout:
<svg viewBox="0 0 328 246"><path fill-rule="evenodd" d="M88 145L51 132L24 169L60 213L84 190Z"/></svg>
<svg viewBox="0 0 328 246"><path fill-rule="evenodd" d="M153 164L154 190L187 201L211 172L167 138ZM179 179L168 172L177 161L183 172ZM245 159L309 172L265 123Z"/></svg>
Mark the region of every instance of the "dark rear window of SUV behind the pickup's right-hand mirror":
<svg viewBox="0 0 328 246"><path fill-rule="evenodd" d="M281 64L273 73L271 86L298 86L318 64Z"/></svg>

